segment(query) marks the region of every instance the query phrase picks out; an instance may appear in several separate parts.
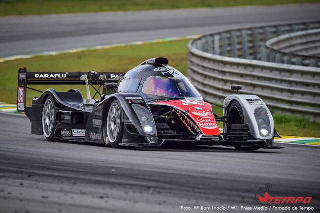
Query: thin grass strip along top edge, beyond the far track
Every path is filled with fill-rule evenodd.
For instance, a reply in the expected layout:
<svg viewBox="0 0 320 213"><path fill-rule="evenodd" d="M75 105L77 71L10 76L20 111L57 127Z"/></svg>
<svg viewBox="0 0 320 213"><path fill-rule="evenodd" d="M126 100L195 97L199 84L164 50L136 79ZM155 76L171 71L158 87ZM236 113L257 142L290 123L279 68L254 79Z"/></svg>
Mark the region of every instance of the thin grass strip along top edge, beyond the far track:
<svg viewBox="0 0 320 213"><path fill-rule="evenodd" d="M1 0L0 16L319 2L319 0Z"/></svg>

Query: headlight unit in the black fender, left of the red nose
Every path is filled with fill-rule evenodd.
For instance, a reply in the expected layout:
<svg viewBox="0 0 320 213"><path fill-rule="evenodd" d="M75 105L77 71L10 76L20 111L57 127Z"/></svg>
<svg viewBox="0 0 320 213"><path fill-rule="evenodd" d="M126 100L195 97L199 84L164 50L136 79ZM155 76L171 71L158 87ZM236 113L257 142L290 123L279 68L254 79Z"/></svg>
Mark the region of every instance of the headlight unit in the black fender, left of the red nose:
<svg viewBox="0 0 320 213"><path fill-rule="evenodd" d="M156 125L153 121L150 111L139 104L132 104L132 109L137 114L143 131L149 135L156 134Z"/></svg>

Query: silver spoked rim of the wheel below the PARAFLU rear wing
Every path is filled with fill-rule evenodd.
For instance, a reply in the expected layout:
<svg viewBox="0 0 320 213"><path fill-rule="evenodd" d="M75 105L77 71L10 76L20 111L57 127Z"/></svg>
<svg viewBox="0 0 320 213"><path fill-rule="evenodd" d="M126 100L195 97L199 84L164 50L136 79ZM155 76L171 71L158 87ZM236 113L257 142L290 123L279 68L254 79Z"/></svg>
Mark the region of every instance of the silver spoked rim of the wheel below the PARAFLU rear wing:
<svg viewBox="0 0 320 213"><path fill-rule="evenodd" d="M42 130L46 137L49 137L52 133L54 122L54 110L53 104L50 99L48 99L43 106L42 110Z"/></svg>

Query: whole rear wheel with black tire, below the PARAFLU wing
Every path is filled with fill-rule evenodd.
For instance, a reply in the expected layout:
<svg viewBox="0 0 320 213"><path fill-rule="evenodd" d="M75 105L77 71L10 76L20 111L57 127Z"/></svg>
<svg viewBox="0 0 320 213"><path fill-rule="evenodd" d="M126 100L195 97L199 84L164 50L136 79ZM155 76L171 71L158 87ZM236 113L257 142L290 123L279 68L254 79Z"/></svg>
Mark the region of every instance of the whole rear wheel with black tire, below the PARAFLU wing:
<svg viewBox="0 0 320 213"><path fill-rule="evenodd" d="M46 139L48 141L56 141L57 139L54 133L57 124L56 109L51 95L46 98L43 104L41 122L42 131Z"/></svg>

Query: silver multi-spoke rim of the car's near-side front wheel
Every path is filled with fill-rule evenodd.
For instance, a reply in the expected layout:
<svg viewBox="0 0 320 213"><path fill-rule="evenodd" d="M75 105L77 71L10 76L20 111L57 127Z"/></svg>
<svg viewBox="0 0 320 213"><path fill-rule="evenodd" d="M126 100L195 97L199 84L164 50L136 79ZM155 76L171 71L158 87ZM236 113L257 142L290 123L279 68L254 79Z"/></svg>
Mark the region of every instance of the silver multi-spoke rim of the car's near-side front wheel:
<svg viewBox="0 0 320 213"><path fill-rule="evenodd" d="M111 105L107 119L107 133L110 143L114 143L120 131L120 109L117 103Z"/></svg>

